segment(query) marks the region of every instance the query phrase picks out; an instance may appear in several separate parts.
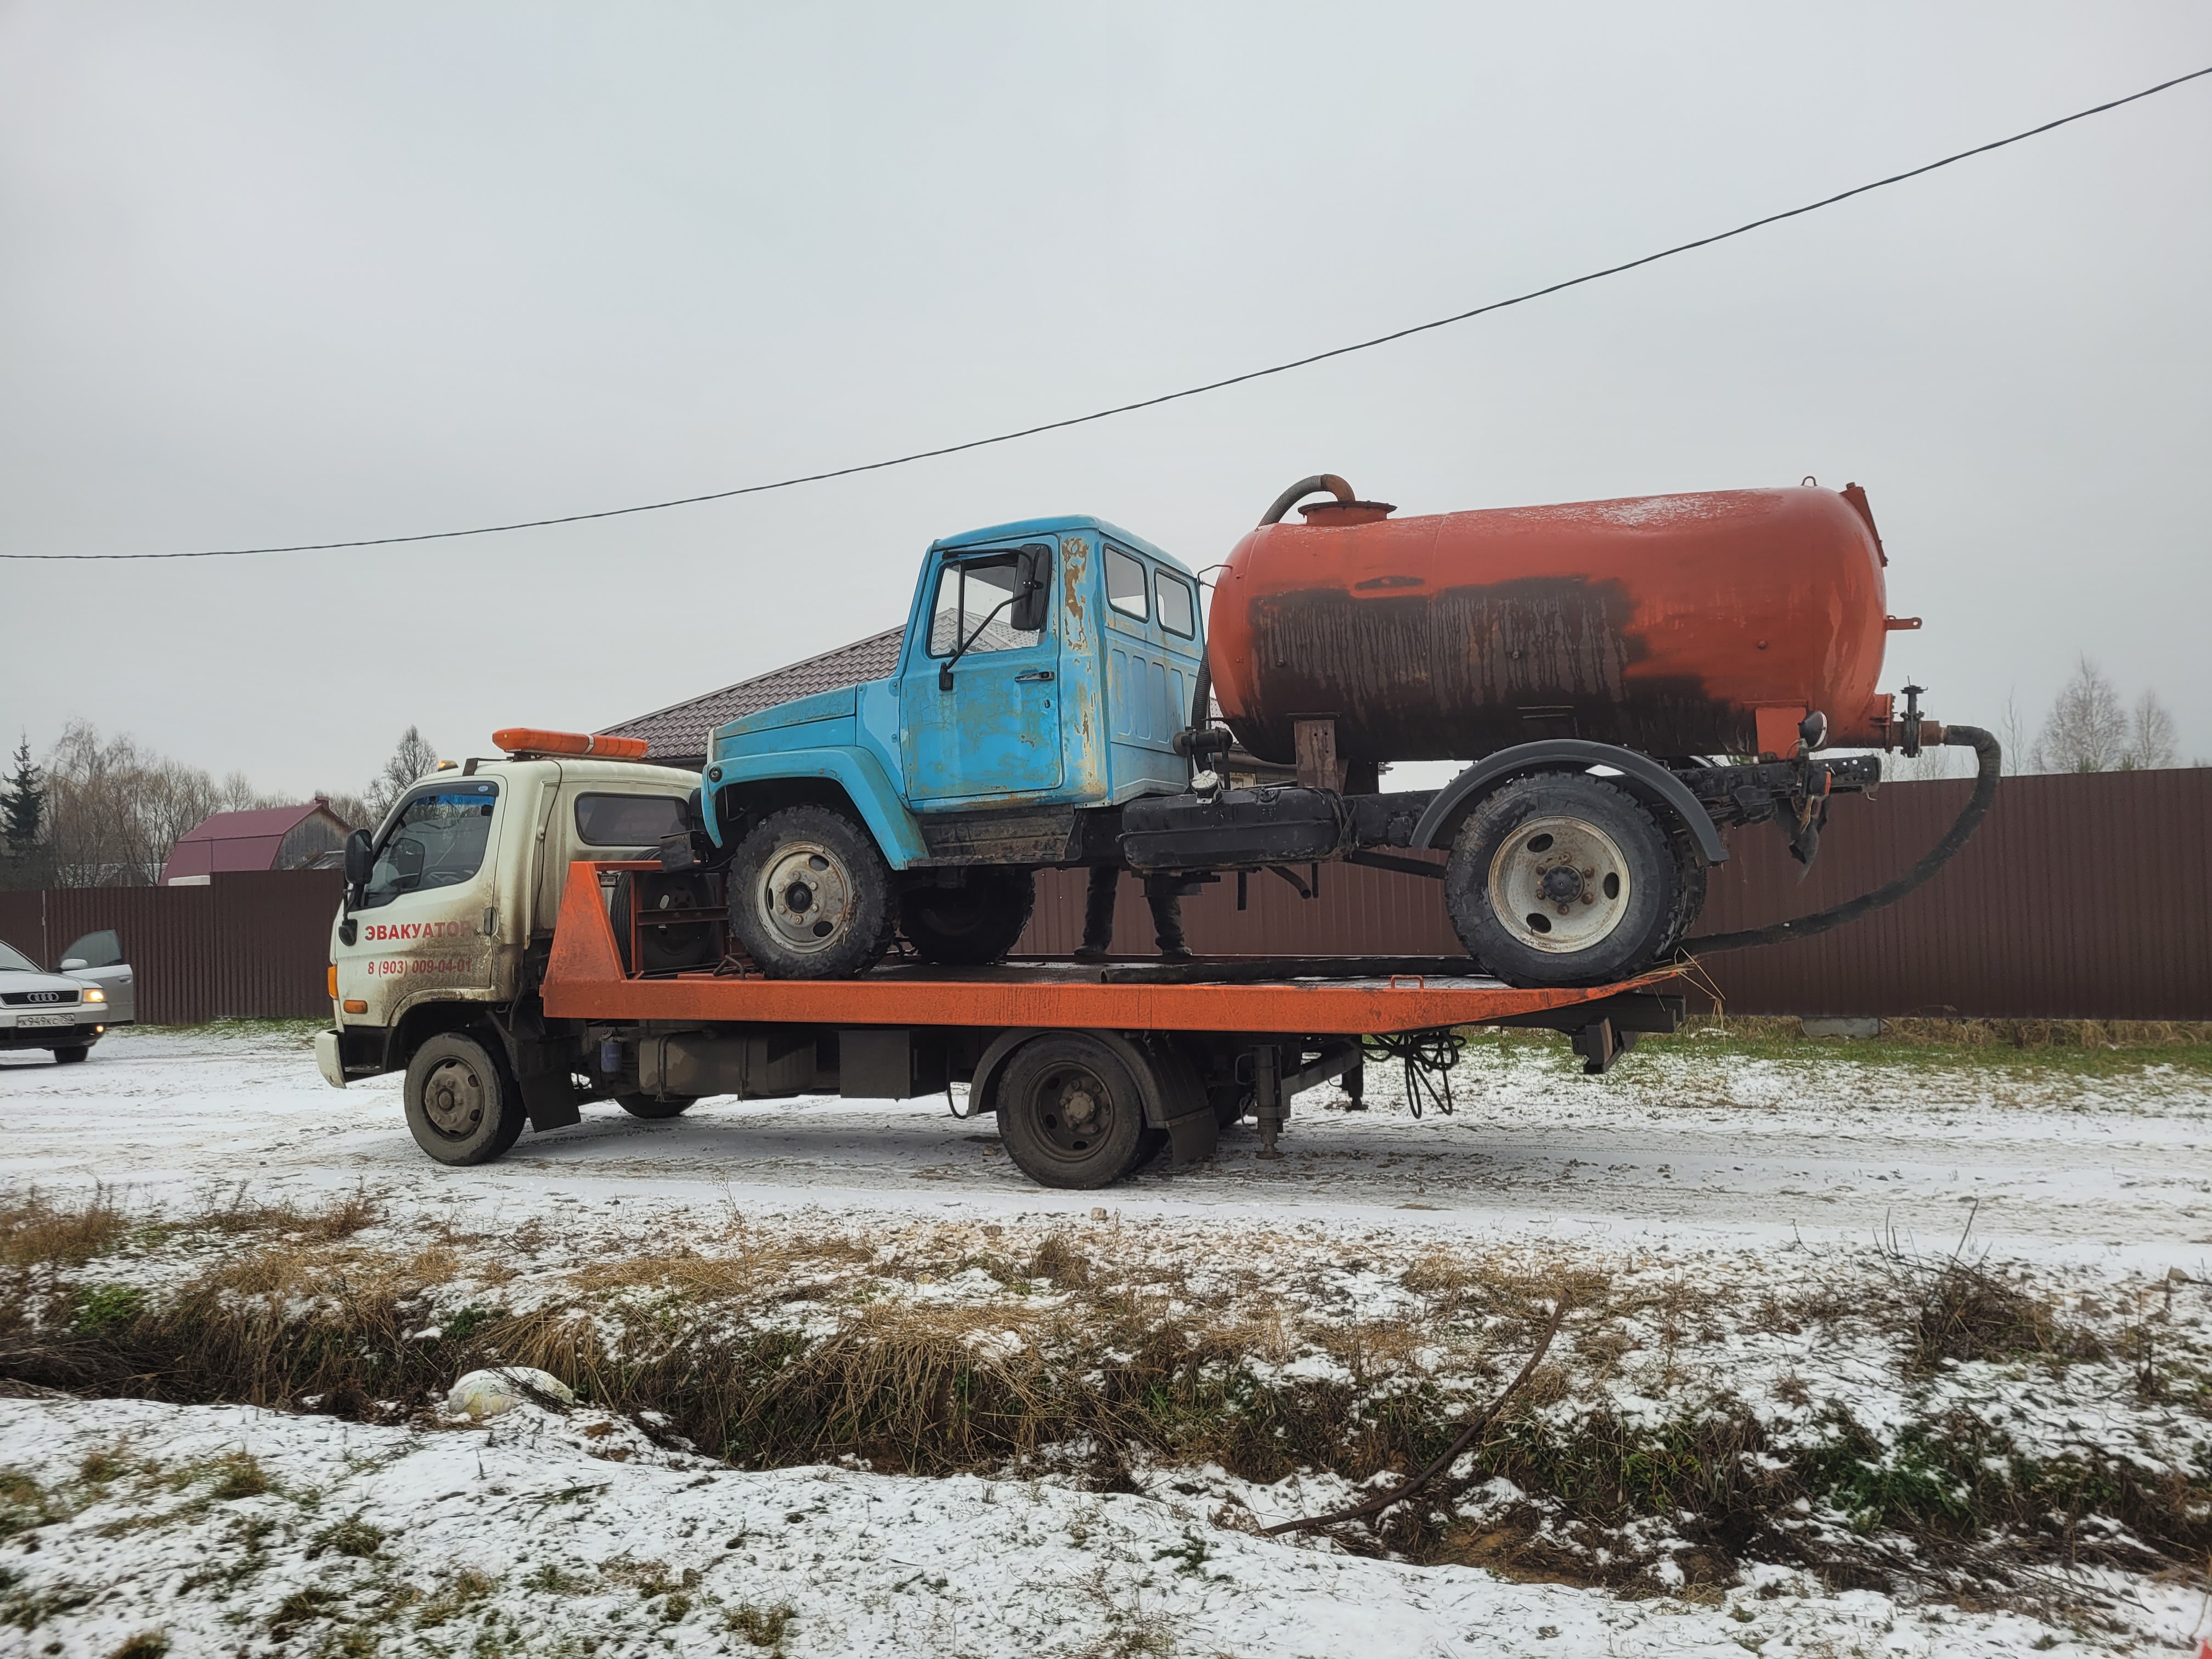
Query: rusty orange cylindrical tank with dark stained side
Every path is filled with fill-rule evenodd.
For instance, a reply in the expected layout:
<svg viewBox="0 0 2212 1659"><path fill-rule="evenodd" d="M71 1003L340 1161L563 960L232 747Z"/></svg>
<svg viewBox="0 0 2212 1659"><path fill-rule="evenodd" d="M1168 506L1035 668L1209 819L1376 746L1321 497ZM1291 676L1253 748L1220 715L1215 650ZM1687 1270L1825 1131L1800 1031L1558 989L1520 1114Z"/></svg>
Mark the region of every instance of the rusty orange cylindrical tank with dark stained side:
<svg viewBox="0 0 2212 1659"><path fill-rule="evenodd" d="M1887 560L1856 484L1387 511L1325 502L1230 553L1208 664L1254 754L1290 761L1303 717L1363 761L1540 737L1750 754L1761 708L1880 741Z"/></svg>

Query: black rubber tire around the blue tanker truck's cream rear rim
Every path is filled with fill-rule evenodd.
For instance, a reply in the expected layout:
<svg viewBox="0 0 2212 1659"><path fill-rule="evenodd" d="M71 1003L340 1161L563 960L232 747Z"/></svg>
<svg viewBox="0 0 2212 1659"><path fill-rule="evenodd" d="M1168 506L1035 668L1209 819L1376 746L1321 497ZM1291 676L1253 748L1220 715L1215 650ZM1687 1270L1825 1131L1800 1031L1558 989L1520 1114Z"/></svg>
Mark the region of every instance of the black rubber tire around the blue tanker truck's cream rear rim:
<svg viewBox="0 0 2212 1659"><path fill-rule="evenodd" d="M1548 900L1544 909L1531 909L1526 922L1502 918L1493 905L1491 876L1493 865L1506 867L1500 863L1502 854L1528 860L1526 867L1542 863L1544 852L1537 849L1551 845L1542 836L1531 838L1526 849L1513 845L1524 827L1540 821L1595 830L1619 852L1621 869L1604 872L1597 883L1626 876L1626 898L1597 894L1595 883L1584 889L1599 905L1593 916L1610 918L1610 927L1588 945L1540 949L1526 942L1537 936L1537 920L1551 925ZM1506 984L1613 984L1632 978L1672 949L1670 929L1688 927L1686 898L1683 869L1659 821L1632 794L1588 772L1548 772L1502 783L1460 825L1444 863L1444 907L1453 931L1469 956ZM1566 902L1579 907L1584 900ZM1557 914L1582 918L1579 909Z"/></svg>

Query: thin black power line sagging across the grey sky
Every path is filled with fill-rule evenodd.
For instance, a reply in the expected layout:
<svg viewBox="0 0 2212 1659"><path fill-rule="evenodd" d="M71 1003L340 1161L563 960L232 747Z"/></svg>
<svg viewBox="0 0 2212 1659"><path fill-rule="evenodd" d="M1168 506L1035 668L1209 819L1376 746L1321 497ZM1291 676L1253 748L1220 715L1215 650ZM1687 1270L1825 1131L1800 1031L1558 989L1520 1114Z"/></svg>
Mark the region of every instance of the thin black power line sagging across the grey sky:
<svg viewBox="0 0 2212 1659"><path fill-rule="evenodd" d="M2093 104L2090 108L2075 111L2073 115L2059 115L2055 122L2044 122L2042 126L2031 126L2024 133L2013 133L2011 137L1991 139L1989 144L1975 144L1971 150L1960 150L1958 155L1947 155L1940 161L1929 161L1927 166L1911 168L1909 173L1891 173L1887 179L1874 179L1871 184L1860 184L1849 190L1838 190L1832 197L1820 197L1818 201L1807 201L1801 208L1785 208L1783 212L1770 212L1763 219L1752 219L1736 226L1734 230L1719 230L1710 237L1699 237L1697 241L1679 241L1672 248L1661 248L1655 254L1644 254L1641 259L1628 259L1619 265L1606 265L1604 270L1593 270L1582 276L1568 276L1559 283L1546 283L1544 288L1531 288L1526 294L1513 294L1511 299L1493 299L1486 305L1475 305L1467 312L1453 312L1451 316L1438 316L1433 323L1413 323L1411 327L1391 330L1389 334L1376 334L1367 341L1354 341L1352 345L1334 345L1327 352L1312 352L1310 356L1294 356L1287 363L1272 363L1265 369L1248 369L1243 374L1232 374L1223 380L1208 380L1203 385L1183 387L1181 392L1161 392L1155 398L1139 398L1135 403L1117 403L1110 409L1093 409L1082 416L1066 416L1064 420L1044 420L1035 427L1018 427L1015 431L1000 431L989 438L969 438L958 445L940 445L938 449L916 449L905 456L891 456L889 460L863 460L854 467L832 467L821 473L799 473L796 478L779 478L770 484L739 484L737 489L717 489L703 495L675 495L664 502L639 502L635 507L602 507L595 513L560 513L555 518L524 518L513 524L478 524L465 531L418 531L416 535L365 535L352 542L292 542L288 546L215 546L197 549L190 553L0 553L0 560L237 560L252 557L259 553L336 553L352 546L398 546L405 542L451 542L462 535L502 535L507 531L538 531L553 524L586 524L597 518L628 518L630 513L661 513L670 507L699 507L703 502L726 502L737 495L765 495L772 489L796 489L799 484L821 484L832 478L852 478L856 473L874 473L887 467L909 467L916 460L936 460L938 456L958 456L967 449L989 449L991 445L1009 445L1018 438L1035 438L1042 431L1064 431L1066 427L1086 427L1093 420L1113 420L1115 416L1135 414L1139 409L1157 409L1164 403L1181 403L1183 398L1199 398L1208 392L1223 392L1232 385L1243 385L1245 380L1265 380L1270 374L1290 374L1292 369L1305 369L1314 363L1327 363L1336 356L1352 356L1354 352L1371 352L1378 345L1389 345L1391 341L1405 341L1413 334L1427 334L1438 327L1451 327L1453 323L1467 323L1475 316L1486 316L1491 312L1502 312L1511 305L1526 305L1533 299L1544 299L1546 294L1559 294L1568 288L1582 288L1584 283L1597 283L1606 276L1619 276L1621 272L1637 270L1639 265L1655 265L1661 259L1672 259L1674 254L1688 254L1697 248L1710 248L1717 241L1728 241L1732 237L1750 234L1765 226L1781 223L1783 219L1798 219L1807 212L1818 212L1820 208L1834 208L1838 201L1849 201L1851 197L1863 197L1869 190L1882 190L1891 184L1905 184L1907 179L1918 179L1924 173L1936 173L1938 168L1953 166L1955 161L1969 161L1975 155L1989 155L1991 150L2002 150L2008 144L2020 144L2042 133L2053 133L2073 122L2086 122L2090 115L2104 115L2106 111L2121 108L2124 104L2137 104L2157 93L2170 91L2192 80L2203 80L2212 75L2212 66L2192 69L2188 75L2174 75L2172 80L2161 80L2157 86L2146 86L2139 93L2128 93L2126 97L2115 97L2106 104Z"/></svg>

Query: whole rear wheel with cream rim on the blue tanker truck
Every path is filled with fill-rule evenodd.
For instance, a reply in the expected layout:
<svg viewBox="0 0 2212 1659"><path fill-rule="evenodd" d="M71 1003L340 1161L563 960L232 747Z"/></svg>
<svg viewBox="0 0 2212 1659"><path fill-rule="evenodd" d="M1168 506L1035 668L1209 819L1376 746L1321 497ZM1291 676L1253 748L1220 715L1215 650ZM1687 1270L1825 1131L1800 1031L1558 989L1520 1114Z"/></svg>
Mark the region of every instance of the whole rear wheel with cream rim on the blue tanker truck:
<svg viewBox="0 0 2212 1659"><path fill-rule="evenodd" d="M1460 825L1444 865L1453 931L1506 984L1626 980L1688 927L1686 898L1659 821L1588 772L1500 785Z"/></svg>

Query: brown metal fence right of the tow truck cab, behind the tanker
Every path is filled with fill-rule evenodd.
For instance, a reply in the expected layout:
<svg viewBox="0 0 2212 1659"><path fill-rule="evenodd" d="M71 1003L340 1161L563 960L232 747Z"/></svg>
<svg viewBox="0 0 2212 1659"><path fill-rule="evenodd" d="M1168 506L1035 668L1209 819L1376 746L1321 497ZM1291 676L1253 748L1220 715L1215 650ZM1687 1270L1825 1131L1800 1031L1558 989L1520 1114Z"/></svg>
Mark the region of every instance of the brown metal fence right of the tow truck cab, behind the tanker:
<svg viewBox="0 0 2212 1659"><path fill-rule="evenodd" d="M1936 845L1971 787L1840 796L1805 880L1778 830L1739 830L1699 931L1761 927L1880 887ZM1073 949L1082 911L1082 872L1048 872L1020 949ZM1152 951L1133 878L1117 916L1117 951ZM1323 865L1314 900L1254 874L1243 911L1223 878L1183 900L1183 920L1194 951L1460 951L1438 883L1349 865ZM1975 838L1911 898L1703 971L1734 1013L2212 1020L2212 770L2006 779Z"/></svg>

